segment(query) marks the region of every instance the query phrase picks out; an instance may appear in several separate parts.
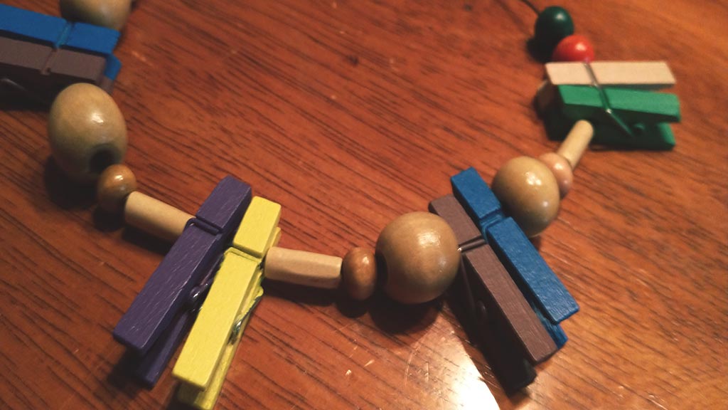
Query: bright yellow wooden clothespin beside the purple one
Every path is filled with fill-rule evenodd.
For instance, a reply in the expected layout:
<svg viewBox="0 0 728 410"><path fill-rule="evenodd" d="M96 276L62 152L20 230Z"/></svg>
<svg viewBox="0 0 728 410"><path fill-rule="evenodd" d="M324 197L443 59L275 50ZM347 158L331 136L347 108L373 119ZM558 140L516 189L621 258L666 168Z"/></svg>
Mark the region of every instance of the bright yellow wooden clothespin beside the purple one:
<svg viewBox="0 0 728 410"><path fill-rule="evenodd" d="M197 409L215 406L250 312L263 295L261 263L280 239L281 206L253 197L226 250L205 303L173 368L178 398Z"/></svg>

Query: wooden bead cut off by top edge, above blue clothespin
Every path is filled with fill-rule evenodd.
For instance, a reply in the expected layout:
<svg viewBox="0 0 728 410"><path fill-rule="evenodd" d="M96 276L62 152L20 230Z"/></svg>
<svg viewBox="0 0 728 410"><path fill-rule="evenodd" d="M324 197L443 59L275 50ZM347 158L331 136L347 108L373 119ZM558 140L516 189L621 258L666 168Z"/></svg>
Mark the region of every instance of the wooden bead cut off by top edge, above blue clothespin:
<svg viewBox="0 0 728 410"><path fill-rule="evenodd" d="M63 18L114 30L122 29L130 12L131 0L60 0Z"/></svg>

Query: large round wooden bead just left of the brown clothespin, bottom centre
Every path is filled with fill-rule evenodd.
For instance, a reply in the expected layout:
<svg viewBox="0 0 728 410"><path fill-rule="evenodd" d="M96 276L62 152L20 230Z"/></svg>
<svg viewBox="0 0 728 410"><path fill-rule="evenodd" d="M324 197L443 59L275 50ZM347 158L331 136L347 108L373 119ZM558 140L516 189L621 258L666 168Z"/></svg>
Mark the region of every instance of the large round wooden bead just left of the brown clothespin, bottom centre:
<svg viewBox="0 0 728 410"><path fill-rule="evenodd" d="M384 292L400 303L437 298L455 278L460 261L450 225L435 214L412 212L393 220L376 241Z"/></svg>

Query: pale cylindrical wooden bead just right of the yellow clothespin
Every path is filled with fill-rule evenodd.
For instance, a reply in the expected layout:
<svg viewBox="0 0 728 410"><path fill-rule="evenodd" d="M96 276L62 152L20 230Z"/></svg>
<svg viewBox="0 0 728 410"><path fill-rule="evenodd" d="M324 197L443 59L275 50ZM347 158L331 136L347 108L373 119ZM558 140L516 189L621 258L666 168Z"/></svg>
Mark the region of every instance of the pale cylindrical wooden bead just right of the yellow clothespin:
<svg viewBox="0 0 728 410"><path fill-rule="evenodd" d="M341 282L341 258L302 250L271 247L266 254L266 279L323 289Z"/></svg>

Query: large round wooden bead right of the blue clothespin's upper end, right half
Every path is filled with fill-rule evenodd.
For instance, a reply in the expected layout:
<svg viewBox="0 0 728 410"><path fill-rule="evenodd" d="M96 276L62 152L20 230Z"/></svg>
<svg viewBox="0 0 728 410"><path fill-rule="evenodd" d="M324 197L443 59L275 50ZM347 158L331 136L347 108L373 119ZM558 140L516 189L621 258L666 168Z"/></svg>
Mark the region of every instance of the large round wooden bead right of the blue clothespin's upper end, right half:
<svg viewBox="0 0 728 410"><path fill-rule="evenodd" d="M503 209L527 236L537 236L558 214L558 184L536 158L518 157L498 170L491 185Z"/></svg>

